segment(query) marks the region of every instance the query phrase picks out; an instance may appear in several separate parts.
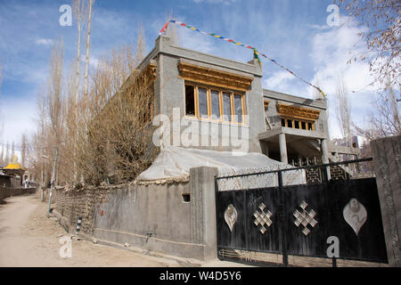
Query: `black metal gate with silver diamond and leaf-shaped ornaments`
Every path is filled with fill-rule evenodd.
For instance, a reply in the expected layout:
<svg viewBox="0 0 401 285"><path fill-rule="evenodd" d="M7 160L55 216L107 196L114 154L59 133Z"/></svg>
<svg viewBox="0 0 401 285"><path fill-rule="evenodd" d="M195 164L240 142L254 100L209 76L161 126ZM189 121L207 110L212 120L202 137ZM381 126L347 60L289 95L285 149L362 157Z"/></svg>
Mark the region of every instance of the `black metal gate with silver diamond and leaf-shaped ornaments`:
<svg viewBox="0 0 401 285"><path fill-rule="evenodd" d="M217 177L218 257L284 266L288 256L332 257L333 266L336 256L388 263L375 178L283 183L288 171L369 160ZM250 175L275 175L278 186L219 191L223 180Z"/></svg>

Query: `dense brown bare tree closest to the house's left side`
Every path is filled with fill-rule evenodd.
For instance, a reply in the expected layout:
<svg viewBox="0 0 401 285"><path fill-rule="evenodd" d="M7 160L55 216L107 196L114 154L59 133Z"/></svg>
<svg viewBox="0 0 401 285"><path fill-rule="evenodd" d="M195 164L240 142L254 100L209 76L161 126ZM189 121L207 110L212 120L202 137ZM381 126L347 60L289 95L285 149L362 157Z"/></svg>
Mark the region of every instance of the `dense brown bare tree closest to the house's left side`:
<svg viewBox="0 0 401 285"><path fill-rule="evenodd" d="M87 133L80 127L80 167L88 183L135 179L151 165L154 69L135 70L130 46L100 58L86 109Z"/></svg>

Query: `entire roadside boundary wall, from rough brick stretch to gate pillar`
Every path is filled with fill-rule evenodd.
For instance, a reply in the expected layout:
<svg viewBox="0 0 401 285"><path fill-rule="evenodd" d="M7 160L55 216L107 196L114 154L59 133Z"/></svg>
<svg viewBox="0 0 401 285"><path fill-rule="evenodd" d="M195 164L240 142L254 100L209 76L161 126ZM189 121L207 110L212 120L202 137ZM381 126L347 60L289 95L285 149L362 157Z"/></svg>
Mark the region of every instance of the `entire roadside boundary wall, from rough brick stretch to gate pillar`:
<svg viewBox="0 0 401 285"><path fill-rule="evenodd" d="M67 232L119 244L128 243L173 256L216 258L217 168L191 169L188 182L88 186L53 191L52 211ZM0 192L1 193L1 192ZM184 199L189 197L189 200ZM40 199L37 191L37 199ZM44 192L47 203L48 190Z"/></svg>

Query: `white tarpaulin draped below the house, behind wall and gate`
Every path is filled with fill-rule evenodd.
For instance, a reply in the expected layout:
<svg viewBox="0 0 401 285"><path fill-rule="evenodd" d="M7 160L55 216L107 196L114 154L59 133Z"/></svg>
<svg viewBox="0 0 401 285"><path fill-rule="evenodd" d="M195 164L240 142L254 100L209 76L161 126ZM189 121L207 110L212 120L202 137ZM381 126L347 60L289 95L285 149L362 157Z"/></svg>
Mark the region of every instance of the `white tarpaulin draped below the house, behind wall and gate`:
<svg viewBox="0 0 401 285"><path fill-rule="evenodd" d="M221 176L258 173L289 168L291 166L274 159L269 159L261 153L239 154L232 151L206 151L169 146L160 151L159 156L154 160L151 167L143 171L138 176L137 181L157 181L188 177L192 167L217 167L218 174ZM287 185L305 183L304 177L303 172L299 170L283 172L283 182ZM250 180L252 183L250 183ZM225 183L229 182L229 180L225 180ZM251 189L278 185L276 173L249 175L231 179L231 182L233 185L226 185L224 188L228 187L231 189L235 186L234 188L244 187L242 189ZM250 184L255 185L252 186Z"/></svg>

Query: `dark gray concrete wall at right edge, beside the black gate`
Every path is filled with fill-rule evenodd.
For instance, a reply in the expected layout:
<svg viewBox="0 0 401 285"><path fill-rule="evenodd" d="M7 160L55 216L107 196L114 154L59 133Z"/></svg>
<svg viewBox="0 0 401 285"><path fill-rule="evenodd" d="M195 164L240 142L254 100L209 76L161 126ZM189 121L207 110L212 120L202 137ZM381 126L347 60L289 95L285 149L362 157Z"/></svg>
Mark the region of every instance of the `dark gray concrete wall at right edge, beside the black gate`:
<svg viewBox="0 0 401 285"><path fill-rule="evenodd" d="M401 266L401 135L371 142L390 266Z"/></svg>

